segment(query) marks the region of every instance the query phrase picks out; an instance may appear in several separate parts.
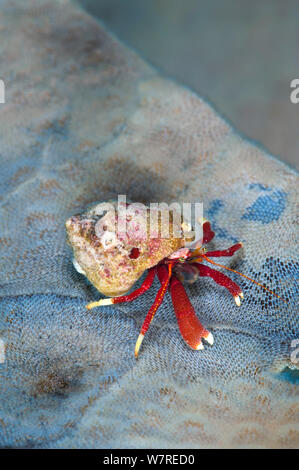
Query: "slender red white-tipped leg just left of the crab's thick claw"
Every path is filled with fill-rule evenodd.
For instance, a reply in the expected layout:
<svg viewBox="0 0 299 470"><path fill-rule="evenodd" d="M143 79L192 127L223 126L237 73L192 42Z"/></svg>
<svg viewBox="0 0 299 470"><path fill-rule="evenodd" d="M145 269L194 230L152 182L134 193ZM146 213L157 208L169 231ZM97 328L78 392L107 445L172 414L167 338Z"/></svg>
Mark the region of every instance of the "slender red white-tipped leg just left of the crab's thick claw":
<svg viewBox="0 0 299 470"><path fill-rule="evenodd" d="M156 298L155 298L155 301L154 301L153 305L149 309L149 311L148 311L148 313L147 313L147 315L144 319L142 328L140 330L140 334L138 336L136 346L135 346L135 357L136 358L138 357L138 352L139 352L141 343L143 341L144 335L147 332L147 330L149 329L149 326L150 326L150 324L151 324L151 322L152 322L152 320L155 316L155 313L158 310L159 306L161 305L162 300L164 298L164 295L167 291L169 280L171 278L171 273L172 273L172 265L171 264L168 264L167 268L166 268L166 266L163 266L163 265L158 267L158 277L159 277L159 280L161 282L161 287L160 287L160 289L159 289L159 291L156 295Z"/></svg>

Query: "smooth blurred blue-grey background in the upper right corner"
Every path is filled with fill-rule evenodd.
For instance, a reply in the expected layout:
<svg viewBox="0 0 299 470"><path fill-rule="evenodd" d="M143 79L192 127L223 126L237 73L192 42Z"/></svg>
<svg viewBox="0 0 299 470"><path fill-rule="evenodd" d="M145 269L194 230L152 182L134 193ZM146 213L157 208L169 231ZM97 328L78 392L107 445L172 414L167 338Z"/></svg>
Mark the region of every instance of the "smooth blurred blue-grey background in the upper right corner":
<svg viewBox="0 0 299 470"><path fill-rule="evenodd" d="M299 167L297 0L79 0L245 136Z"/></svg>

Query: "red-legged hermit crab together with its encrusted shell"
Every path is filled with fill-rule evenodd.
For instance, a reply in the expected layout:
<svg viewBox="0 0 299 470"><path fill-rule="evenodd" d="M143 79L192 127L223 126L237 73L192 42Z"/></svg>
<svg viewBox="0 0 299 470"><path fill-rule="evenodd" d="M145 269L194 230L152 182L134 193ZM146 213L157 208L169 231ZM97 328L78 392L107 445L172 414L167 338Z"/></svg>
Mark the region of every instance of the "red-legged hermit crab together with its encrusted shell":
<svg viewBox="0 0 299 470"><path fill-rule="evenodd" d="M120 207L124 210L121 224ZM149 236L152 220L158 222L154 230L151 227L151 236ZM116 230L117 224L118 230ZM211 242L215 233L210 222L202 219L202 238L191 247L187 247L186 237L183 236L184 225L185 222L180 219L180 236L174 236L173 230L171 231L174 227L174 217L168 210L160 208L150 210L146 206L126 203L116 206L113 202L97 204L86 213L73 216L66 222L75 268L84 274L99 292L110 297L88 304L87 309L131 302L150 289L155 276L158 277L161 287L138 336L135 346L136 358L144 335L167 291L170 292L181 335L195 350L204 349L203 340L213 345L214 339L212 333L196 316L183 283L194 282L198 277L208 276L216 284L226 288L238 306L243 299L242 290L234 281L222 272L203 264L208 262L237 272L216 263L211 258L233 256L242 248L242 243L236 243L224 250L207 250L205 245ZM165 228L170 228L171 233L168 237L161 236ZM146 270L148 272L142 285L127 293ZM238 274L269 290L244 274Z"/></svg>

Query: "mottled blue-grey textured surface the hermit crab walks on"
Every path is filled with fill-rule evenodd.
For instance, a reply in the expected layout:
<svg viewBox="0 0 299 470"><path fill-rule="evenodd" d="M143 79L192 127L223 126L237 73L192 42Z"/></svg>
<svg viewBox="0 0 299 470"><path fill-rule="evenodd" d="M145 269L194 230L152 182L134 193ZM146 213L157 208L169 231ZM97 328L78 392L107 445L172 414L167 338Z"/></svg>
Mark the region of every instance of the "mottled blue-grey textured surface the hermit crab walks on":
<svg viewBox="0 0 299 470"><path fill-rule="evenodd" d="M69 1L1 1L0 444L12 447L296 447L296 174L161 78ZM204 202L238 308L188 287L215 344L190 350L167 296L134 345L153 289L87 311L64 222L93 201ZM221 260L220 260L221 261ZM228 262L227 260L225 262Z"/></svg>

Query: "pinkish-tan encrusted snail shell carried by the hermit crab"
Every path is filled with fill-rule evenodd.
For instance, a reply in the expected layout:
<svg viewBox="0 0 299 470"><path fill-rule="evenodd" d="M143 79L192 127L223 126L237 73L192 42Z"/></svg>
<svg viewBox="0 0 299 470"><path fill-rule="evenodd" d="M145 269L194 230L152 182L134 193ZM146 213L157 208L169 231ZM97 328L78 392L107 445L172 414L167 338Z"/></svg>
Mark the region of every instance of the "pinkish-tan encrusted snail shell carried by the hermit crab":
<svg viewBox="0 0 299 470"><path fill-rule="evenodd" d="M103 210L110 204L111 210ZM163 210L161 211L161 214ZM149 208L127 210L126 230L115 230L118 218L115 203L100 203L66 222L74 266L105 296L126 293L146 269L184 246L183 236L162 238L163 229L173 233L172 212L160 217L159 231L149 236ZM169 223L168 223L169 220ZM167 221L167 227L164 227ZM182 234L182 232L181 232ZM155 234L154 234L155 235Z"/></svg>

